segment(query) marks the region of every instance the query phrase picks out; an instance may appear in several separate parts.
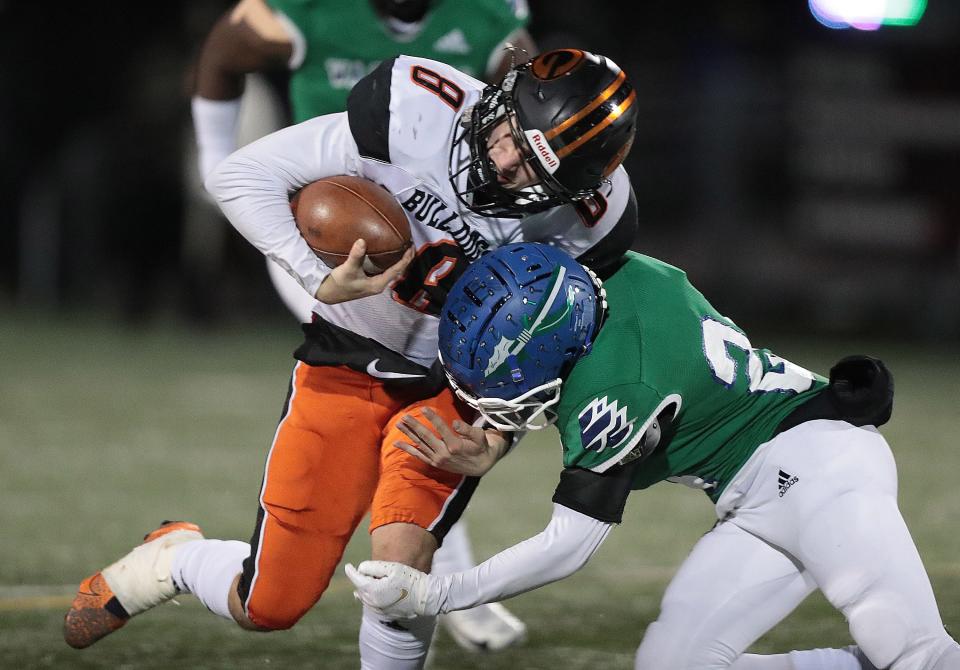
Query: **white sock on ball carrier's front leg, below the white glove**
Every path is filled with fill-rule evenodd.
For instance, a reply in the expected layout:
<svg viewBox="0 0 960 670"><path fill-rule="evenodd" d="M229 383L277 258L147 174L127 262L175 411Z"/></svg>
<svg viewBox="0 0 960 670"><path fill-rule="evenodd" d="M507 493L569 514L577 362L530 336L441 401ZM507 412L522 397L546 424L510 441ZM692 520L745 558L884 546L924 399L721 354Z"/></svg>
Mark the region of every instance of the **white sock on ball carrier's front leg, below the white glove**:
<svg viewBox="0 0 960 670"><path fill-rule="evenodd" d="M420 670L436 617L391 621L369 607L360 622L361 670Z"/></svg>

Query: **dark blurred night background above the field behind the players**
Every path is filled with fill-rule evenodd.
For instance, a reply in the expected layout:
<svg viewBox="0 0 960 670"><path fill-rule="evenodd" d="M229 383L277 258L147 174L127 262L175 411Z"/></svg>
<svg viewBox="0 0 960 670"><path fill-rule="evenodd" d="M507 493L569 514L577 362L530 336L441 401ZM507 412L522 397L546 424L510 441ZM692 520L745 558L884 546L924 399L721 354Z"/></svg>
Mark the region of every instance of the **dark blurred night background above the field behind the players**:
<svg viewBox="0 0 960 670"><path fill-rule="evenodd" d="M619 4L532 0L530 31L638 89L636 249L744 324L960 339L960 3L872 32L803 0ZM284 318L188 186L190 64L229 6L0 0L0 314Z"/></svg>

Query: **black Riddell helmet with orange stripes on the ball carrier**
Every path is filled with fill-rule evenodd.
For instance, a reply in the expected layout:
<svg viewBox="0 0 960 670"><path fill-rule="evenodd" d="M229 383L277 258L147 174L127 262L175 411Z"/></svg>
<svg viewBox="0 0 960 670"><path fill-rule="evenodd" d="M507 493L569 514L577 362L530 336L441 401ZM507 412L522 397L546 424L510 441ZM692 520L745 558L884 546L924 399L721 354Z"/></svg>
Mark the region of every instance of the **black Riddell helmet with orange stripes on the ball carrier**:
<svg viewBox="0 0 960 670"><path fill-rule="evenodd" d="M461 202L485 216L523 216L589 198L623 162L636 132L636 91L616 63L580 49L548 51L484 89L450 152ZM511 190L497 183L487 140L506 120L539 177Z"/></svg>

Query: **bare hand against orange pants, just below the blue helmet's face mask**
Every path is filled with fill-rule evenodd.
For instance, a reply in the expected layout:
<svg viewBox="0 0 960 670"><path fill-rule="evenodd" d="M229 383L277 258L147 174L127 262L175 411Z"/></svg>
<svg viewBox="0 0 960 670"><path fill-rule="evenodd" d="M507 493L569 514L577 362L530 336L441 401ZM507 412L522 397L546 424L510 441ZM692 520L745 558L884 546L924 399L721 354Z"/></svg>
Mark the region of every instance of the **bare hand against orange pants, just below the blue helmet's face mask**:
<svg viewBox="0 0 960 670"><path fill-rule="evenodd" d="M404 414L397 428L410 443L394 442L428 465L470 477L482 477L506 452L509 441L502 433L470 426L463 421L447 424L443 417L423 408L423 416L433 429L410 414Z"/></svg>

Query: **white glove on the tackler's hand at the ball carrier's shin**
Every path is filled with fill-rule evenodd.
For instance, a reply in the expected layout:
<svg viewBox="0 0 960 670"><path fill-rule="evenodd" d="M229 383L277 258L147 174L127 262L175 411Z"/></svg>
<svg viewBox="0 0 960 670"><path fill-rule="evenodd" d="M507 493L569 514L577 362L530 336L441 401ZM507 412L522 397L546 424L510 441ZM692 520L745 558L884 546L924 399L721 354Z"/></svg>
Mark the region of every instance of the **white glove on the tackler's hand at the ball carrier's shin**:
<svg viewBox="0 0 960 670"><path fill-rule="evenodd" d="M356 587L354 597L381 614L412 619L440 611L439 598L430 596L430 575L409 565L364 561L356 568L347 563L344 571Z"/></svg>

